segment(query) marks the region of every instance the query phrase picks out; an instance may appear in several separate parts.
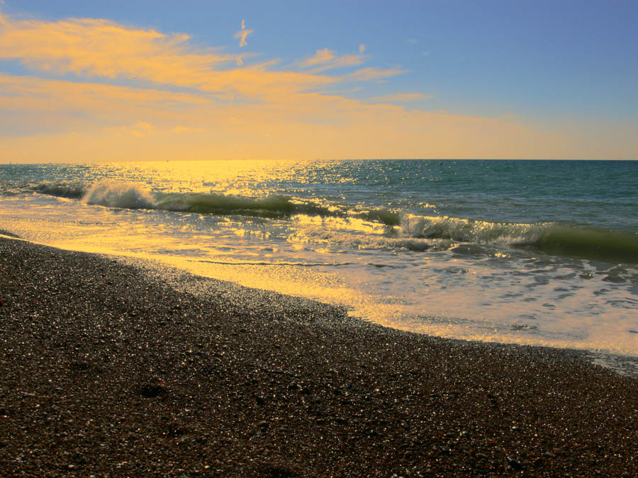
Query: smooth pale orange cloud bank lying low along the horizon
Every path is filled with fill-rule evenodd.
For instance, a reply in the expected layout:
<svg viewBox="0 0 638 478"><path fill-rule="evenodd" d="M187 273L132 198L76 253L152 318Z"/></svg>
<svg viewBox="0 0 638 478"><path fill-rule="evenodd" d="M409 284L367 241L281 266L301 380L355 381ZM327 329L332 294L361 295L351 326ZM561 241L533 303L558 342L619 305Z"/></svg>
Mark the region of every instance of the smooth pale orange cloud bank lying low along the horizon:
<svg viewBox="0 0 638 478"><path fill-rule="evenodd" d="M0 83L0 111L13 112L0 114L0 131L22 130L0 135L0 159L14 161L548 157L564 146L564 138L511 119L320 93L230 105L192 93L26 76L0 75ZM247 146L237 152L238 143Z"/></svg>

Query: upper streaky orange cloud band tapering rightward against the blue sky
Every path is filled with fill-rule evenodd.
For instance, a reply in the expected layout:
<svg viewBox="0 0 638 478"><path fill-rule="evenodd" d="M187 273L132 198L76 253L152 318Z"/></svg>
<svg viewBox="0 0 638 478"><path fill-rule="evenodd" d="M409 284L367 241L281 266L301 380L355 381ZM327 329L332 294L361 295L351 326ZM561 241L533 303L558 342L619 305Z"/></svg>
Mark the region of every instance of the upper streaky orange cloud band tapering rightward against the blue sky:
<svg viewBox="0 0 638 478"><path fill-rule="evenodd" d="M0 13L0 22L0 58L18 59L47 74L141 79L249 98L336 81L311 73L272 71L274 62L232 69L233 62L243 64L254 54L228 55L220 48L191 45L189 35L166 35L111 21L13 21Z"/></svg>

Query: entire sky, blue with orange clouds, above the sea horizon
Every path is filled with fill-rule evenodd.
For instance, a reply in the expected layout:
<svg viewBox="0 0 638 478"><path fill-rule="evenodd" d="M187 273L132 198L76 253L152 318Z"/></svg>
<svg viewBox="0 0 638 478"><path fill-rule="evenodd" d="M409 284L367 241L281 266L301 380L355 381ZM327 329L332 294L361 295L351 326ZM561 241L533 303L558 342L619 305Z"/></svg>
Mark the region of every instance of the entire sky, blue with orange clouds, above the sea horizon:
<svg viewBox="0 0 638 478"><path fill-rule="evenodd" d="M0 0L0 162L638 159L638 2Z"/></svg>

